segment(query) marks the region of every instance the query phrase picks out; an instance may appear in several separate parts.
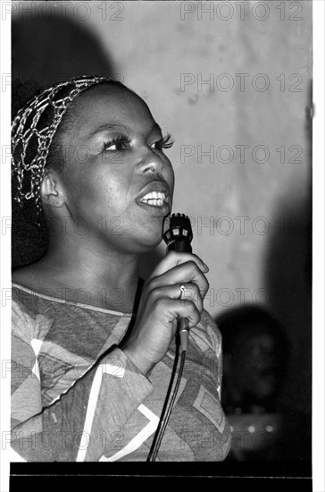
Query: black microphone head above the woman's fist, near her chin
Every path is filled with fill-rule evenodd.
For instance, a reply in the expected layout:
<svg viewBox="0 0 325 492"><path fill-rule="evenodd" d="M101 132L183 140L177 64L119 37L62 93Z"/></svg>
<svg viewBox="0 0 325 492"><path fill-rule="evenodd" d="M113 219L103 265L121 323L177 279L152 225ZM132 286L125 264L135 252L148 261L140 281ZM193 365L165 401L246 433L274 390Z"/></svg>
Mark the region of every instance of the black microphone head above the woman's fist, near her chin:
<svg viewBox="0 0 325 492"><path fill-rule="evenodd" d="M192 252L190 242L193 239L193 233L189 218L185 214L166 216L162 238L168 250Z"/></svg>

